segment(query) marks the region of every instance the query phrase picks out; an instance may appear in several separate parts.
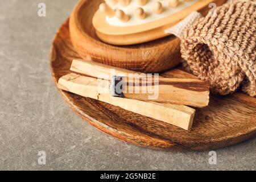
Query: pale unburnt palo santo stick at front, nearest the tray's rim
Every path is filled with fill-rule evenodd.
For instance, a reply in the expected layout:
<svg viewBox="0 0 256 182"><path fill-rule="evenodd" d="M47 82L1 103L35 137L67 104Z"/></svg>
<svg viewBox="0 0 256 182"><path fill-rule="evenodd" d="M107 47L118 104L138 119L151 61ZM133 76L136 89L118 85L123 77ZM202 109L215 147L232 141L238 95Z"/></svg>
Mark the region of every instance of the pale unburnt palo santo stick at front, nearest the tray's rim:
<svg viewBox="0 0 256 182"><path fill-rule="evenodd" d="M59 79L58 88L79 94L83 97L90 97L102 102L107 102L123 109L170 123L184 130L192 127L195 110L182 105L161 104L158 102L144 102L133 99L112 97L107 92L109 80L98 80L97 78L86 77L71 73ZM100 93L99 90L104 90Z"/></svg>

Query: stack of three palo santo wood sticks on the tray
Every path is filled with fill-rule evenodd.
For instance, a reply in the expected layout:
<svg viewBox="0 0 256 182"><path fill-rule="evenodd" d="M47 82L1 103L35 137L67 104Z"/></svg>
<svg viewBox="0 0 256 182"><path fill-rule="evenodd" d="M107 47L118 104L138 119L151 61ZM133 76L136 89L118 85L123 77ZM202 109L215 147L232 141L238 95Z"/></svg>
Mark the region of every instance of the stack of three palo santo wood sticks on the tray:
<svg viewBox="0 0 256 182"><path fill-rule="evenodd" d="M184 130L192 127L196 111L192 107L205 107L209 104L209 83L178 69L172 70L177 78L171 78L171 75L159 77L158 90L156 90L158 97L155 100L149 99L148 93L125 92L123 98L113 97L110 94L109 85L113 76L129 77L131 74L141 75L142 73L91 60L73 60L71 71L75 73L59 79L59 89L107 102ZM184 75L186 78L183 78Z"/></svg>

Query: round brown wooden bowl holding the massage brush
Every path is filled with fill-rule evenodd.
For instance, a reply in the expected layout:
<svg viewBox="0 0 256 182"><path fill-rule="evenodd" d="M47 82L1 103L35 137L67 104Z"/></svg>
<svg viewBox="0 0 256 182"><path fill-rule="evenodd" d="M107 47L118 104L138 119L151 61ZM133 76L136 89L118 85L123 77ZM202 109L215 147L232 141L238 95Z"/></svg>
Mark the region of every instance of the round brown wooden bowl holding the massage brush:
<svg viewBox="0 0 256 182"><path fill-rule="evenodd" d="M111 46L101 42L92 25L94 13L103 0L81 0L73 10L69 27L71 41L85 59L139 72L159 73L180 63L180 39L174 35L133 46ZM216 1L217 5L224 3ZM200 10L205 15L208 7Z"/></svg>

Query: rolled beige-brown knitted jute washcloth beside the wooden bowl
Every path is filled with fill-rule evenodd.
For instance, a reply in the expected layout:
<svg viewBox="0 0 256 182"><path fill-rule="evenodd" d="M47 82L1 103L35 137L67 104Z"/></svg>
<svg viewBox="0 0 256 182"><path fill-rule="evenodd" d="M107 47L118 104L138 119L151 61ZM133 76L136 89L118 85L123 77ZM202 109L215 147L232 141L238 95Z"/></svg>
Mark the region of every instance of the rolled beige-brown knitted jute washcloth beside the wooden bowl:
<svg viewBox="0 0 256 182"><path fill-rule="evenodd" d="M221 95L256 91L256 5L232 1L183 32L181 55L192 72Z"/></svg>

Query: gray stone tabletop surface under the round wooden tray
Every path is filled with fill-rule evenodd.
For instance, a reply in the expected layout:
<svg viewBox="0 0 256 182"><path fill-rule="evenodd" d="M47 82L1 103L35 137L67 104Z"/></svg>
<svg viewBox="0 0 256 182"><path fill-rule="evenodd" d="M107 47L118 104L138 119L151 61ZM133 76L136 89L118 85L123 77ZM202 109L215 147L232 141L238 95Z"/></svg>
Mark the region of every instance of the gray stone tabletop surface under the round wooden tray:
<svg viewBox="0 0 256 182"><path fill-rule="evenodd" d="M45 2L47 16L37 15ZM0 0L0 169L255 169L256 138L217 150L156 151L133 146L82 121L49 72L49 48L73 0ZM46 165L38 164L46 151Z"/></svg>

